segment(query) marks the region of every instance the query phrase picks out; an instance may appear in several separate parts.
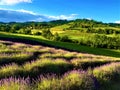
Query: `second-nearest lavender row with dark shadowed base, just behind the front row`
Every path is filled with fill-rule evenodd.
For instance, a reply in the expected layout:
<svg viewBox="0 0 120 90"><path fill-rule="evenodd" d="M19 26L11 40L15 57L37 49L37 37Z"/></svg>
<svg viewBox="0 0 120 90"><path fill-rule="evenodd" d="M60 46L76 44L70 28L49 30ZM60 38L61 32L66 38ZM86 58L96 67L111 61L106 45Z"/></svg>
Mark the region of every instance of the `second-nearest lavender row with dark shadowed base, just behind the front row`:
<svg viewBox="0 0 120 90"><path fill-rule="evenodd" d="M118 62L117 61L87 61L87 60L73 60L66 61L62 59L39 59L36 61L27 62L24 65L17 65L15 63L2 66L0 68L0 79L7 77L30 77L36 78L40 74L54 73L56 75L63 75L71 70L87 70L94 69L96 66L104 65L105 63ZM96 70L97 71L97 70ZM101 75L101 74L100 74Z"/></svg>

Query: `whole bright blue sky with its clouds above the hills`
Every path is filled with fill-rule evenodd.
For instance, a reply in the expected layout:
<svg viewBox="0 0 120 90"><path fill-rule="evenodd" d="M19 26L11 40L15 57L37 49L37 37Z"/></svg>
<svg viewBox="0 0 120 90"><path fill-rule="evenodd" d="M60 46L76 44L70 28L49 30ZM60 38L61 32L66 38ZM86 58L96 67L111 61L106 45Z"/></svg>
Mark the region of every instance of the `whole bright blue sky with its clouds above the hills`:
<svg viewBox="0 0 120 90"><path fill-rule="evenodd" d="M0 0L0 22L83 18L120 23L120 0Z"/></svg>

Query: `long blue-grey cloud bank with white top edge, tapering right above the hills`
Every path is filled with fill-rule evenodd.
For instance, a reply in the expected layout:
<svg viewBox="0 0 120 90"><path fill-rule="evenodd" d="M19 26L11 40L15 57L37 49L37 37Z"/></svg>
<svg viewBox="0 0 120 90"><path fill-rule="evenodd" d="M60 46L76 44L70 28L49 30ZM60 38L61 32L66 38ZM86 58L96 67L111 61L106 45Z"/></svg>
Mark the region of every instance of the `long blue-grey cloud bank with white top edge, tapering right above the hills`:
<svg viewBox="0 0 120 90"><path fill-rule="evenodd" d="M77 14L49 16L40 15L32 11L0 9L0 22L50 21L59 19L74 19Z"/></svg>

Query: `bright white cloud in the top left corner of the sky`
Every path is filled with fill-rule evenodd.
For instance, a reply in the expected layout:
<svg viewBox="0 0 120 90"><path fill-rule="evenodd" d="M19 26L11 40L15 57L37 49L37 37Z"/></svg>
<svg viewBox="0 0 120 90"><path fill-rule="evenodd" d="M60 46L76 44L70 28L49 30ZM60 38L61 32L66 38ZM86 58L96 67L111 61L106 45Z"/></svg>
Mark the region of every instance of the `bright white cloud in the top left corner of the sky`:
<svg viewBox="0 0 120 90"><path fill-rule="evenodd" d="M0 5L15 5L18 3L32 3L32 0L0 0Z"/></svg>

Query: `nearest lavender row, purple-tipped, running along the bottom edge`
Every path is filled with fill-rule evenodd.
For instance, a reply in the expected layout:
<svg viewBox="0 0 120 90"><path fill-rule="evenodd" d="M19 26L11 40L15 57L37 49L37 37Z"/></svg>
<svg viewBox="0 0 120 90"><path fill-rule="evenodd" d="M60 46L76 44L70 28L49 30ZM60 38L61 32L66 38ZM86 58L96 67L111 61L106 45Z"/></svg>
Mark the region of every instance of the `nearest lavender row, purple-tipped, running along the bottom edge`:
<svg viewBox="0 0 120 90"><path fill-rule="evenodd" d="M30 78L7 78L0 80L0 90L98 90L120 78L120 63L111 63L93 70L73 70L63 76L40 76L30 82ZM112 89L111 89L112 90Z"/></svg>

